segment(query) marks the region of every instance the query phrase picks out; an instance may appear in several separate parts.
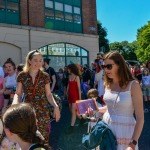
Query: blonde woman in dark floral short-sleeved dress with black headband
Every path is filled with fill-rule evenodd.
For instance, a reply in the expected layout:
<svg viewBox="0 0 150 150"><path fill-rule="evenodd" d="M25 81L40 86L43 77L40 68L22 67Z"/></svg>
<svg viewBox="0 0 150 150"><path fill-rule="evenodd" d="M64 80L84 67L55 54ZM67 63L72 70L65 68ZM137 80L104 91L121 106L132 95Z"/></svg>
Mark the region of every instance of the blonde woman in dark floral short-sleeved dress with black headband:
<svg viewBox="0 0 150 150"><path fill-rule="evenodd" d="M50 91L50 77L42 71L43 58L39 51L34 50L28 53L24 71L17 77L17 89L14 96L13 104L19 102L24 93L24 102L30 103L37 117L38 130L45 138L48 144L49 138L49 103L54 107L54 117L56 121L60 119L59 107L56 104Z"/></svg>

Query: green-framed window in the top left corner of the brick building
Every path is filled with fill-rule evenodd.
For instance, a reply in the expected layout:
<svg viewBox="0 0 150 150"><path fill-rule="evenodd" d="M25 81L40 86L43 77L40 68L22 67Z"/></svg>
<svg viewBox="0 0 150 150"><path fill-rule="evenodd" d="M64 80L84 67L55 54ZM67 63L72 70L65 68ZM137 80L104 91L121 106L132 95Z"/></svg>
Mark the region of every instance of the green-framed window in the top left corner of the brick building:
<svg viewBox="0 0 150 150"><path fill-rule="evenodd" d="M19 0L0 0L0 23L20 24L19 6Z"/></svg>

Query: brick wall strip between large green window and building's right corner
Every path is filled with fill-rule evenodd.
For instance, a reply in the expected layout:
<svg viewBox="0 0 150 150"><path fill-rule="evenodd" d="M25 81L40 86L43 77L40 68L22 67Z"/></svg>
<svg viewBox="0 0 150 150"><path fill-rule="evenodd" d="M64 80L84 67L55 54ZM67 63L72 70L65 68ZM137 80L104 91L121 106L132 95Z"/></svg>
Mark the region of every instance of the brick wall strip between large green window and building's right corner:
<svg viewBox="0 0 150 150"><path fill-rule="evenodd" d="M96 0L82 0L83 33L97 34Z"/></svg>

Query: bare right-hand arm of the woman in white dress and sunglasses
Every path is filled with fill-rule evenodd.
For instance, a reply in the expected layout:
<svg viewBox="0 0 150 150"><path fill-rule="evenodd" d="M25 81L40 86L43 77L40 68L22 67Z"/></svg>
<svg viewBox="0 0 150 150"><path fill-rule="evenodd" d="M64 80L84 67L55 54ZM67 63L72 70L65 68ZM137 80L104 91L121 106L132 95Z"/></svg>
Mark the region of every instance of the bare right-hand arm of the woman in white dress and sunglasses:
<svg viewBox="0 0 150 150"><path fill-rule="evenodd" d="M136 115L136 125L132 135L132 139L138 141L144 124L144 112L143 112L143 97L139 83L135 81L131 89L132 101ZM134 148L134 145L132 144Z"/></svg>

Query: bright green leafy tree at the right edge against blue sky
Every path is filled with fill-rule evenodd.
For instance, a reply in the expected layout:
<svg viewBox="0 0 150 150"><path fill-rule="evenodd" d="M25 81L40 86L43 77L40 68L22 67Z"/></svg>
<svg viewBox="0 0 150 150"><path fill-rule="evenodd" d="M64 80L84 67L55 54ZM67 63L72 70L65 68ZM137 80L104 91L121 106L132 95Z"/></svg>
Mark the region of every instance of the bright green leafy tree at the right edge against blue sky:
<svg viewBox="0 0 150 150"><path fill-rule="evenodd" d="M141 62L145 63L150 59L150 21L137 30L137 45L136 55Z"/></svg>

